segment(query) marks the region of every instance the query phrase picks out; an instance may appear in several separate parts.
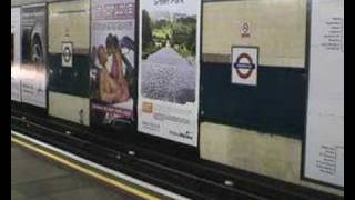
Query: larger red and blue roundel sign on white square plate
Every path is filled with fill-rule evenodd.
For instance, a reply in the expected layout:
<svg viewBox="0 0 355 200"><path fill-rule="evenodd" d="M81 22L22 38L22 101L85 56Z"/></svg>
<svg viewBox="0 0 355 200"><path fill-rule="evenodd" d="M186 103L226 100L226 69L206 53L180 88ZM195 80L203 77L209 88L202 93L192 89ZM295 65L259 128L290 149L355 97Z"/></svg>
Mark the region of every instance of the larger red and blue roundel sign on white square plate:
<svg viewBox="0 0 355 200"><path fill-rule="evenodd" d="M232 48L232 83L256 86L257 53L255 47Z"/></svg>

